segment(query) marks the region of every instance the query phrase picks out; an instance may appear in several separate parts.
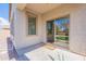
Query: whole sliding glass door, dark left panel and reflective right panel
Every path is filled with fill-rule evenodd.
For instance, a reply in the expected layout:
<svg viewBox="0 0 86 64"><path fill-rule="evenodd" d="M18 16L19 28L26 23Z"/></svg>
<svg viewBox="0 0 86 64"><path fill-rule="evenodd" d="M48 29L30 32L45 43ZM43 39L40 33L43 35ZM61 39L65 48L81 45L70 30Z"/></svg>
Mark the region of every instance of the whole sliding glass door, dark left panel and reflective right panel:
<svg viewBox="0 0 86 64"><path fill-rule="evenodd" d="M61 47L69 46L69 16L47 22L47 41Z"/></svg>

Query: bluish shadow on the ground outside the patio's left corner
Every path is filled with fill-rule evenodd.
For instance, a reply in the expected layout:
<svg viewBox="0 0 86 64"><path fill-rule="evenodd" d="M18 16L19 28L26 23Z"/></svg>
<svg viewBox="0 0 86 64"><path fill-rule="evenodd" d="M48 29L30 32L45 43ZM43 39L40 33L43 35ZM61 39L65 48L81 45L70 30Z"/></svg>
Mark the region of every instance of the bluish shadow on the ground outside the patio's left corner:
<svg viewBox="0 0 86 64"><path fill-rule="evenodd" d="M7 38L9 60L29 61L24 54L19 55L10 37Z"/></svg>

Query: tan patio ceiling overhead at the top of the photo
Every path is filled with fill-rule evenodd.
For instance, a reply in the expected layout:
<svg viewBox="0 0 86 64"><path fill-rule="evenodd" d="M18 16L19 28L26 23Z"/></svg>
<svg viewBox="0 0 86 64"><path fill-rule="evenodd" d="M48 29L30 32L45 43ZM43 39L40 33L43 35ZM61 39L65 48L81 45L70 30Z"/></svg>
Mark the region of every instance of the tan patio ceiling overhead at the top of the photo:
<svg viewBox="0 0 86 64"><path fill-rule="evenodd" d="M42 14L58 8L59 5L61 5L61 3L27 3L26 10Z"/></svg>

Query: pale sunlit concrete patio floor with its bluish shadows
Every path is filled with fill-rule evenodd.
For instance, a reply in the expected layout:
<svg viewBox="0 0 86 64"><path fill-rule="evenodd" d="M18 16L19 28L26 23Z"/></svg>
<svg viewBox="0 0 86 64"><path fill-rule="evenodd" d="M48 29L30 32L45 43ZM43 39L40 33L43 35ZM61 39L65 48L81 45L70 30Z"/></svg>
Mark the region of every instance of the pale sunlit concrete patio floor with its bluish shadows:
<svg viewBox="0 0 86 64"><path fill-rule="evenodd" d="M86 60L86 56L77 55L66 49L62 49L50 43L37 43L15 50L10 39L10 30L0 30L0 61L57 61L59 53L64 53L63 59L67 60ZM16 52L17 51L17 52ZM57 57L56 57L57 55ZM53 57L52 57L53 56Z"/></svg>

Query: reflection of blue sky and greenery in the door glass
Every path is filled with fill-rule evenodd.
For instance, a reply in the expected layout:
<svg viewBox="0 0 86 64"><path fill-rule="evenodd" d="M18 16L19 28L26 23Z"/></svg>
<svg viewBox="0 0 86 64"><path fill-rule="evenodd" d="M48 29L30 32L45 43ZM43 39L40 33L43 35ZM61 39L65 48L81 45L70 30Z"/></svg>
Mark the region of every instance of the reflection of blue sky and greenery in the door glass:
<svg viewBox="0 0 86 64"><path fill-rule="evenodd" d="M56 25L56 40L58 41L69 41L69 18L59 18L54 21Z"/></svg>

